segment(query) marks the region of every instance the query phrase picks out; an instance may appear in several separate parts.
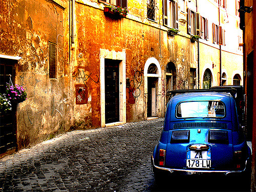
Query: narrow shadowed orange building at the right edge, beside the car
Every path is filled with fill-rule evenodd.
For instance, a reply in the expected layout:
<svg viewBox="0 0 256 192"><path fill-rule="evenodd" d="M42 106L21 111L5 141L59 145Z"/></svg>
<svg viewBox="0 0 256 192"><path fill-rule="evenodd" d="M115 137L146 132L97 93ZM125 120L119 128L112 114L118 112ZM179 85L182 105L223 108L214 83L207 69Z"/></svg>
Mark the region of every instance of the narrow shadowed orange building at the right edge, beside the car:
<svg viewBox="0 0 256 192"><path fill-rule="evenodd" d="M256 113L255 109L256 102L256 52L254 48L256 46L256 33L254 32L256 25L256 4L252 0L241 0L240 1L240 28L243 30L244 35L244 90L245 90L245 119L246 119L246 129L248 130L248 139L252 142L252 177L251 177L251 191L256 191L256 180L255 180L255 170L256 170L256 157L255 157L255 147L256 147Z"/></svg>

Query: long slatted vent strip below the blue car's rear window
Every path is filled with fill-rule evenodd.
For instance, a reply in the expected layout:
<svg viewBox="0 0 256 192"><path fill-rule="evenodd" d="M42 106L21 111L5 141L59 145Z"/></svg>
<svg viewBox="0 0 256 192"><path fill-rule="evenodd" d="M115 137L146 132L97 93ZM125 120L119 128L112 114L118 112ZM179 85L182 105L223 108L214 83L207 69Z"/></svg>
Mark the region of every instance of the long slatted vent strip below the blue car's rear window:
<svg viewBox="0 0 256 192"><path fill-rule="evenodd" d="M175 123L174 129L183 129L190 127L210 127L216 129L227 129L227 123L219 122L184 122L184 123Z"/></svg>

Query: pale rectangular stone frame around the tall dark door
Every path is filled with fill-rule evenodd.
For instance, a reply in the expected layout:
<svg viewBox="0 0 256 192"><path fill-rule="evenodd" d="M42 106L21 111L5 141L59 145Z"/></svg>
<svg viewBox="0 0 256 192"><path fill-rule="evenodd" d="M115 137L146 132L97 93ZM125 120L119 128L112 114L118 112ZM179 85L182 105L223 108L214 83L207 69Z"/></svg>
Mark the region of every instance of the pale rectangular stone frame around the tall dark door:
<svg viewBox="0 0 256 192"><path fill-rule="evenodd" d="M126 73L125 62L126 53L114 50L109 51L100 49L100 117L101 127L114 126L126 123ZM119 63L119 121L113 123L105 123L105 59L120 60Z"/></svg>

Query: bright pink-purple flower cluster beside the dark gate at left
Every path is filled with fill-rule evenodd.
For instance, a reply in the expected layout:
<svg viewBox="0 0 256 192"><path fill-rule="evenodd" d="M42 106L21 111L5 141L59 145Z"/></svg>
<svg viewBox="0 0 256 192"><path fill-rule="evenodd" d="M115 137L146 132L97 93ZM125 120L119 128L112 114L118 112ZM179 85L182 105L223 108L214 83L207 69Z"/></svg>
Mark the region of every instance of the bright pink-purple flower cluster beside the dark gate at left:
<svg viewBox="0 0 256 192"><path fill-rule="evenodd" d="M10 102L23 102L27 99L27 93L22 86L15 84L15 86L6 86L6 97Z"/></svg>

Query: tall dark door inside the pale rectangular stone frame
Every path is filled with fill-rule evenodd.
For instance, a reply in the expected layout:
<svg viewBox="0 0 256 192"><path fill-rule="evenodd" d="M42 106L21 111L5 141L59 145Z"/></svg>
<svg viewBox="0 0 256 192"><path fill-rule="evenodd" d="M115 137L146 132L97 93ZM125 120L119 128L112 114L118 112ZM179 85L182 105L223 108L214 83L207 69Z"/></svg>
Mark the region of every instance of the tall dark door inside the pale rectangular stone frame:
<svg viewBox="0 0 256 192"><path fill-rule="evenodd" d="M105 122L119 121L119 60L105 59Z"/></svg>

